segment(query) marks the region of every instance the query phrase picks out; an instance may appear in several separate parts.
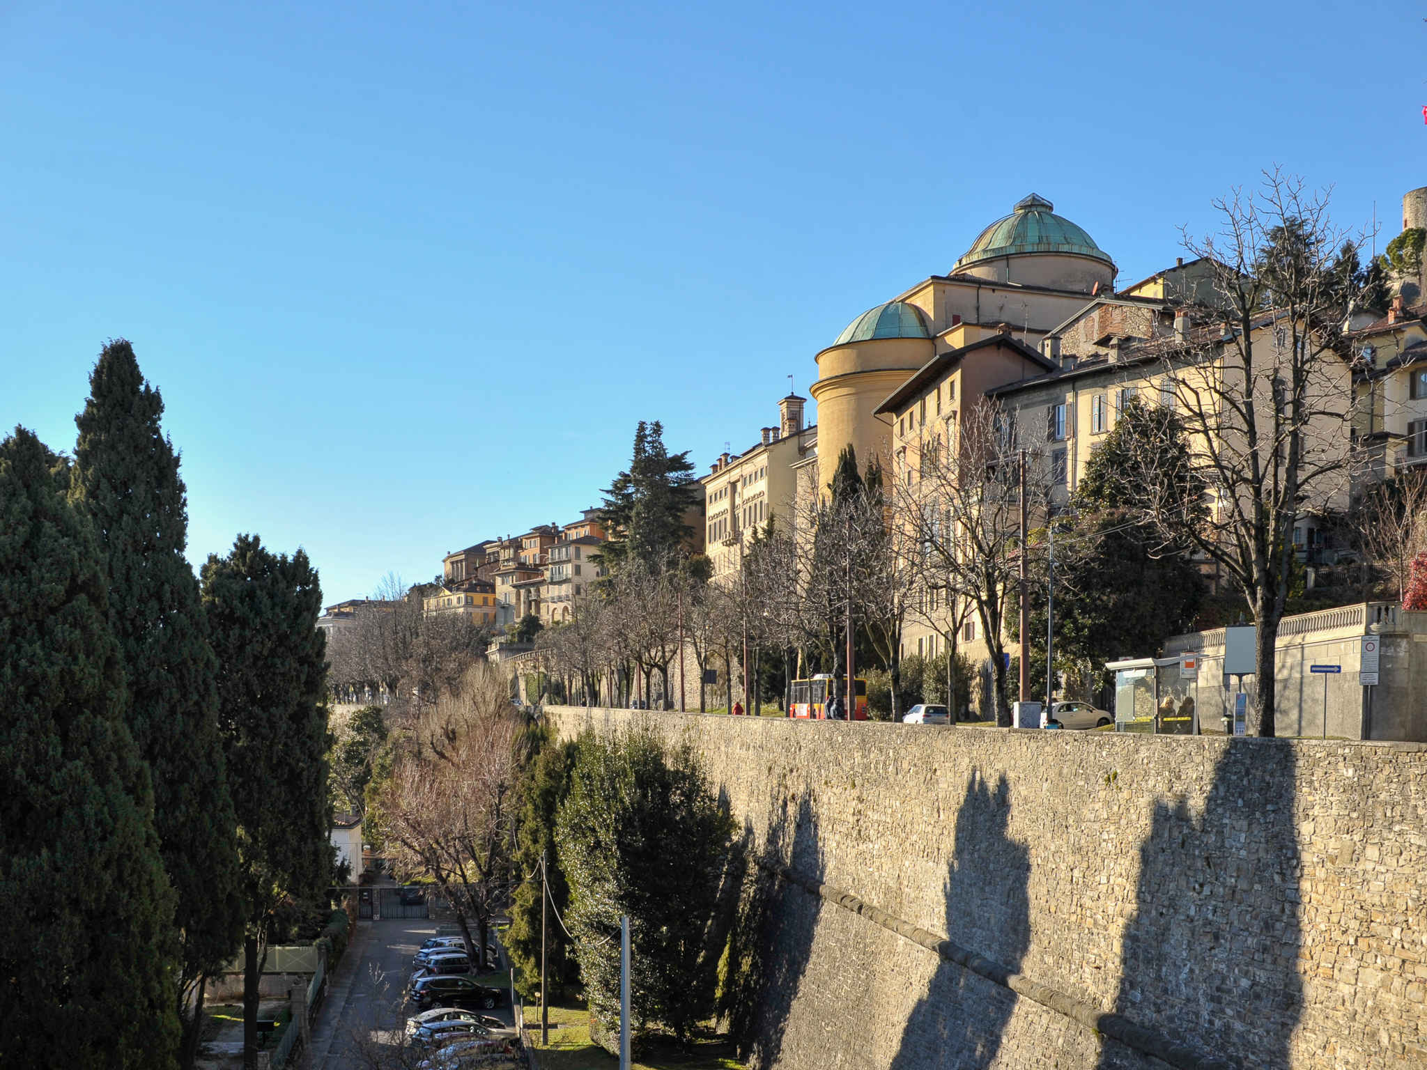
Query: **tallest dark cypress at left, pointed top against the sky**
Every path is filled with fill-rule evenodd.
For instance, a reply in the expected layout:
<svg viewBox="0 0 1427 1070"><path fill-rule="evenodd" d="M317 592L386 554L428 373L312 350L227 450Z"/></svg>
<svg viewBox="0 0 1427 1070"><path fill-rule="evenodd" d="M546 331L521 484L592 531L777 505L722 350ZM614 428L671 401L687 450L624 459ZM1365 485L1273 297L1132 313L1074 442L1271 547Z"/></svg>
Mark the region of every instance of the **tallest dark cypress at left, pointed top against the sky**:
<svg viewBox="0 0 1427 1070"><path fill-rule="evenodd" d="M133 347L113 341L76 417L70 495L90 518L108 581L108 619L128 681L128 730L148 763L164 869L177 893L183 1064L197 1051L203 979L243 937L235 820L218 740L217 665L184 559L188 514L178 457L158 427L158 391ZM193 1006L194 1013L187 1009Z"/></svg>

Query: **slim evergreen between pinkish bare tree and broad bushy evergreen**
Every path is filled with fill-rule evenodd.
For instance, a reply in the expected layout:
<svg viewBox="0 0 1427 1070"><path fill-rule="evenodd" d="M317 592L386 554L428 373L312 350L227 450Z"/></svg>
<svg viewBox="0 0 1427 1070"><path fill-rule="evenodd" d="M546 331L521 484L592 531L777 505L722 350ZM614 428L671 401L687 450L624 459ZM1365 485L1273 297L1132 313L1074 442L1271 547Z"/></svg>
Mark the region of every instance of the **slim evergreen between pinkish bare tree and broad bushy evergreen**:
<svg viewBox="0 0 1427 1070"><path fill-rule="evenodd" d="M515 872L534 873L515 889L511 905L511 927L505 932L505 950L517 967L517 987L529 999L541 987L541 879L539 865L545 859L549 897L555 910L565 916L569 910L569 885L555 852L555 815L569 795L569 776L575 765L575 745L561 742L548 725L532 729L535 752L525 766L519 783L517 817ZM579 979L569 940L547 906L545 959L549 973L548 994L568 992Z"/></svg>

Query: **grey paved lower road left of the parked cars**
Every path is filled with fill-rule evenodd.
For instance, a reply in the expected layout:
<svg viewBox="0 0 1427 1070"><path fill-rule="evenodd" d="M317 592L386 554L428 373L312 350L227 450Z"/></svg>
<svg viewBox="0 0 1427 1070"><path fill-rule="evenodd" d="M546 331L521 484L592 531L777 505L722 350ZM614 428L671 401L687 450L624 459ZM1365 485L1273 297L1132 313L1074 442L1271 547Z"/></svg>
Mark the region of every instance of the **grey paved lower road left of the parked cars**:
<svg viewBox="0 0 1427 1070"><path fill-rule="evenodd" d="M370 1066L372 1046L400 1040L414 1013L404 1003L411 956L435 933L437 922L427 919L357 923L313 1030L313 1070L358 1070ZM511 1021L508 1006L482 1013Z"/></svg>

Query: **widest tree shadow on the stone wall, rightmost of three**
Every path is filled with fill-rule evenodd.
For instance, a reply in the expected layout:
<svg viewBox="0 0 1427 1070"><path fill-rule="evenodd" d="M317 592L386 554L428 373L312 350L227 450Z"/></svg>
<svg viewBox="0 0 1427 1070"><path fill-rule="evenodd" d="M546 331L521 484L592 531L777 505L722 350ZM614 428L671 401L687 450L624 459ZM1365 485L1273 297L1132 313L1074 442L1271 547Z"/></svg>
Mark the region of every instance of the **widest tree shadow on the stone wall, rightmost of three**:
<svg viewBox="0 0 1427 1070"><path fill-rule="evenodd" d="M1244 1067L1286 1067L1303 1007L1300 855L1287 743L1233 740L1196 819L1154 806L1114 1010ZM1114 1043L1100 1069L1134 1064Z"/></svg>

